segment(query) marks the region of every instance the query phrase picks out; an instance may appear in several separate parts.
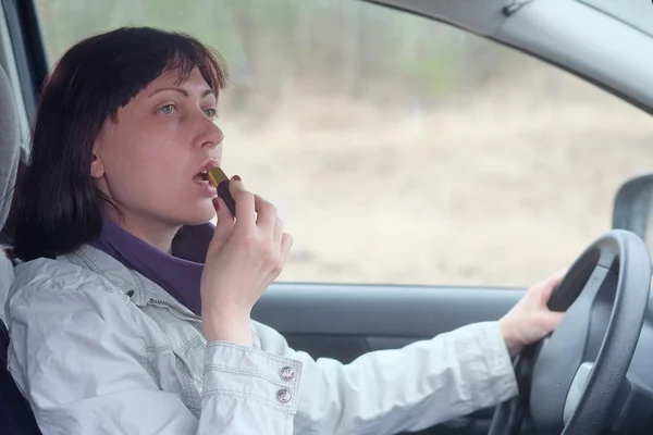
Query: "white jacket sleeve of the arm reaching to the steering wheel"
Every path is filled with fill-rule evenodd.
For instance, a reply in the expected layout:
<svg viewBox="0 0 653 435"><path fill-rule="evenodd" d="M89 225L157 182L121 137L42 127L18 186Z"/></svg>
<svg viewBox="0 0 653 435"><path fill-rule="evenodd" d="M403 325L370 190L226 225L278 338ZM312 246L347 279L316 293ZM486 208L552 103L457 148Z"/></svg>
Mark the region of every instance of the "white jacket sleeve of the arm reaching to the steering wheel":
<svg viewBox="0 0 653 435"><path fill-rule="evenodd" d="M279 333L256 324L257 346L301 361L295 433L396 434L419 431L517 394L510 357L496 322L482 322L349 364L311 359Z"/></svg>

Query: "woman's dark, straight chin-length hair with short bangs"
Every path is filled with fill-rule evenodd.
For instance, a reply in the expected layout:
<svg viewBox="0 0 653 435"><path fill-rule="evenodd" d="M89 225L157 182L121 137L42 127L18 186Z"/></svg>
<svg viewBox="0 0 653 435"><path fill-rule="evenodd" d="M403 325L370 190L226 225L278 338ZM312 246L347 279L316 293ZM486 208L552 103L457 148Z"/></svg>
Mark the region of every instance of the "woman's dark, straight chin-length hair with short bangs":
<svg viewBox="0 0 653 435"><path fill-rule="evenodd" d="M72 47L46 80L19 186L14 254L27 261L69 253L101 233L111 202L90 176L93 147L108 119L161 74L183 83L197 67L215 91L226 84L219 53L197 39L148 27L123 27ZM103 203L104 201L104 203Z"/></svg>

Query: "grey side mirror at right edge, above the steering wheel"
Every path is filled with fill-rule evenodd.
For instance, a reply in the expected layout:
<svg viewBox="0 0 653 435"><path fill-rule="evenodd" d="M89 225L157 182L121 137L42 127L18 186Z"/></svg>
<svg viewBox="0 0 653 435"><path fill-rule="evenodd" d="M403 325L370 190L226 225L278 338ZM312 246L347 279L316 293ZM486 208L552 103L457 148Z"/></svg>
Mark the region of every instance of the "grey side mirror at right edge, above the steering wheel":
<svg viewBox="0 0 653 435"><path fill-rule="evenodd" d="M653 173L639 175L621 185L613 204L613 228L640 236L653 252Z"/></svg>

